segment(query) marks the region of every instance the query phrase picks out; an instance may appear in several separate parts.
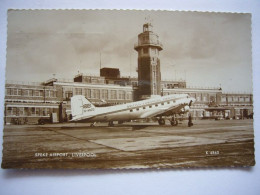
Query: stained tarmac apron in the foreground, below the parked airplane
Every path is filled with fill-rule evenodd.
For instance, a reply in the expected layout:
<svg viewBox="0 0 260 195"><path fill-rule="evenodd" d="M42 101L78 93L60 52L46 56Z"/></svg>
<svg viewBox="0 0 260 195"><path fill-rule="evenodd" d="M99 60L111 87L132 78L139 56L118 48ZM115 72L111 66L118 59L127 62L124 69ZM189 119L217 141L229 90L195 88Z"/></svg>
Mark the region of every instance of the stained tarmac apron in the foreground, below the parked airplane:
<svg viewBox="0 0 260 195"><path fill-rule="evenodd" d="M253 166L253 120L194 120L188 127L128 122L7 125L2 168Z"/></svg>

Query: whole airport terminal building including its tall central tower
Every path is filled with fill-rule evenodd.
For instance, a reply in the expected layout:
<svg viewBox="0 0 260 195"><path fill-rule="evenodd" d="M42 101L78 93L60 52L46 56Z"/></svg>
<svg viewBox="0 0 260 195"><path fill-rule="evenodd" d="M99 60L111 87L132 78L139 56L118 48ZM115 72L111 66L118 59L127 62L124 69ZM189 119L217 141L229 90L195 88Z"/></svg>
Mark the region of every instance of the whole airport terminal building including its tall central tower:
<svg viewBox="0 0 260 195"><path fill-rule="evenodd" d="M57 78L41 83L6 81L5 124L37 123L42 118L67 121L74 95L84 95L95 106L111 106L154 95L188 94L196 99L190 110L194 119L252 117L252 94L226 94L221 88L189 88L183 80L163 80L159 59L163 45L150 23L143 25L134 49L138 53L138 78L121 77L119 69L104 67L98 76L78 74L70 81Z"/></svg>

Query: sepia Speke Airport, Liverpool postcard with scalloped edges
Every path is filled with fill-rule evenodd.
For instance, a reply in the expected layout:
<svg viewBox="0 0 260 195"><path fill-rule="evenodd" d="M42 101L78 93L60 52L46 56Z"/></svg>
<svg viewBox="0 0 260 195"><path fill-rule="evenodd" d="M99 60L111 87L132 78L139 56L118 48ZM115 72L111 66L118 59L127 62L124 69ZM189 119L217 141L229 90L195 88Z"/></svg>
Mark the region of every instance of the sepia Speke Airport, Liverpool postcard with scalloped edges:
<svg viewBox="0 0 260 195"><path fill-rule="evenodd" d="M9 168L254 166L251 14L9 10Z"/></svg>

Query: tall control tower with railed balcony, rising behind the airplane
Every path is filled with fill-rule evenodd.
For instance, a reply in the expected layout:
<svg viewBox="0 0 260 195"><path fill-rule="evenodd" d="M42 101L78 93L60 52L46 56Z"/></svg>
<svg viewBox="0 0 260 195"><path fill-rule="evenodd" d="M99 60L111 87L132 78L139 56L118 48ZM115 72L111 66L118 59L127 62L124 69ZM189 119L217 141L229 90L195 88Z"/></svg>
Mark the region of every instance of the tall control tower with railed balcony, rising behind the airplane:
<svg viewBox="0 0 260 195"><path fill-rule="evenodd" d="M152 30L152 24L143 25L134 49L138 52L138 99L161 95L161 70L159 51L162 44L159 36Z"/></svg>

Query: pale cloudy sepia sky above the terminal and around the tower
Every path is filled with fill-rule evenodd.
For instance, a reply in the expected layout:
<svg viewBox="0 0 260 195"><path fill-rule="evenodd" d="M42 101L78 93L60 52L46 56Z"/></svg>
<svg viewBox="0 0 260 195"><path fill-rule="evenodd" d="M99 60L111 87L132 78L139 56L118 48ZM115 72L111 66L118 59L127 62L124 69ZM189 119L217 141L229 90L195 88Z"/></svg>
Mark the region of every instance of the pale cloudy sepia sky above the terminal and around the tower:
<svg viewBox="0 0 260 195"><path fill-rule="evenodd" d="M137 77L134 44L147 21L163 44L163 80L252 93L251 15L237 13L9 10L6 80L99 75L100 59Z"/></svg>

